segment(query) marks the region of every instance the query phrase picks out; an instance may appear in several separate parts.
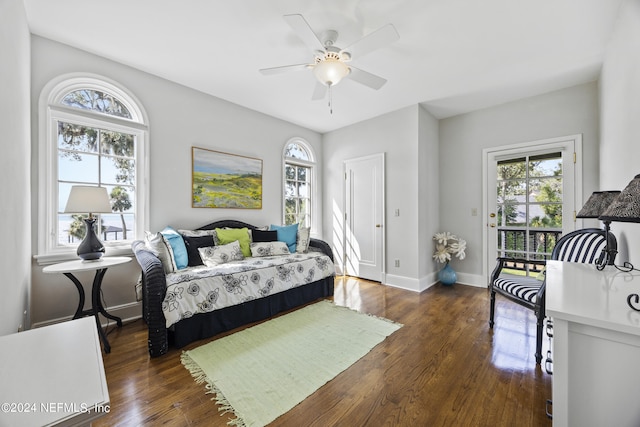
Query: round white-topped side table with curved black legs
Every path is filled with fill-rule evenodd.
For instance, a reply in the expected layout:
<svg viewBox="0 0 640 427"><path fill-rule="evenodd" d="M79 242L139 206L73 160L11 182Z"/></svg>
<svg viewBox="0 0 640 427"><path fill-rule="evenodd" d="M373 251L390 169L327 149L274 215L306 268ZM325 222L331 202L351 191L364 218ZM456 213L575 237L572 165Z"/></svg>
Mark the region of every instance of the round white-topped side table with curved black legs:
<svg viewBox="0 0 640 427"><path fill-rule="evenodd" d="M92 261L83 261L83 260L75 260L75 261L67 261L61 262L59 264L48 265L42 269L43 273L54 274L54 273L62 273L69 278L76 285L76 289L78 289L78 294L80 299L78 301L78 308L76 309L76 313L74 314L74 319L79 319L84 316L94 316L96 319L96 326L98 328L98 332L100 333L100 338L102 338L102 343L104 344L105 353L111 352L111 346L109 345L109 341L107 340L107 334L102 329L100 324L100 314L105 316L108 319L115 320L118 327L122 327L122 319L116 317L110 313L107 313L104 306L102 305L102 300L100 299L100 289L102 288L102 279L104 278L105 273L107 272L107 268L113 267L120 264L125 264L131 261L131 258L128 257L102 257L98 260ZM79 271L93 271L95 270L96 275L93 278L93 285L91 287L91 308L89 310L84 310L84 288L82 287L82 283L78 280L77 277L73 275L73 273L77 273Z"/></svg>

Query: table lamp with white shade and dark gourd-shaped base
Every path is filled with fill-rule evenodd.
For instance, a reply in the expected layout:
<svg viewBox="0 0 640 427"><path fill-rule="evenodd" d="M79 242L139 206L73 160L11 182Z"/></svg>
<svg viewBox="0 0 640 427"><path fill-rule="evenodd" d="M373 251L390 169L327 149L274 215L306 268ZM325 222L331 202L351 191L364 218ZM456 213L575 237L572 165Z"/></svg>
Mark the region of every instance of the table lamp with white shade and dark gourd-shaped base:
<svg viewBox="0 0 640 427"><path fill-rule="evenodd" d="M64 209L65 213L89 213L84 218L87 231L84 239L78 245L78 256L85 261L98 260L104 254L104 244L93 229L96 222L94 213L111 213L109 194L104 187L88 185L74 185L69 193L69 200Z"/></svg>

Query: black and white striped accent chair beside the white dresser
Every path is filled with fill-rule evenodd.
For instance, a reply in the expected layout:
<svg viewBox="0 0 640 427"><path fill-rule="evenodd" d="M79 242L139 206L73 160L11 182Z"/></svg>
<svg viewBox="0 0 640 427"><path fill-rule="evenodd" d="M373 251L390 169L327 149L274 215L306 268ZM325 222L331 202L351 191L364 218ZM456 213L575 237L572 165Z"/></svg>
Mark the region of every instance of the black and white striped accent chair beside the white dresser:
<svg viewBox="0 0 640 427"><path fill-rule="evenodd" d="M605 258L609 240L609 253L615 254L617 250L616 237L610 232L599 228L585 228L572 231L562 236L556 242L552 260L595 264L606 259L609 265L613 265L615 255ZM542 270L545 261L525 260L517 258L498 258L496 268L491 274L489 291L491 306L489 312L489 327L493 328L496 294L500 294L509 300L533 310L536 316L536 363L542 361L542 328L545 318L545 289L544 277L524 277L503 273L504 268L513 268L514 264L526 265L528 268Z"/></svg>

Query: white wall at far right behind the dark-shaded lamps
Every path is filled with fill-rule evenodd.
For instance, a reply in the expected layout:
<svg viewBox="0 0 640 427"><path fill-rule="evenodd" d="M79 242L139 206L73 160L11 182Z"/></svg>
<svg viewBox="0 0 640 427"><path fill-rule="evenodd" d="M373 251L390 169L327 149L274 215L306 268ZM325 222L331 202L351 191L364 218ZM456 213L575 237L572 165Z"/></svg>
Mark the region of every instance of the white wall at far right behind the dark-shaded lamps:
<svg viewBox="0 0 640 427"><path fill-rule="evenodd" d="M640 174L640 2L623 3L600 78L600 182L622 190ZM640 224L611 224L623 261L640 267Z"/></svg>

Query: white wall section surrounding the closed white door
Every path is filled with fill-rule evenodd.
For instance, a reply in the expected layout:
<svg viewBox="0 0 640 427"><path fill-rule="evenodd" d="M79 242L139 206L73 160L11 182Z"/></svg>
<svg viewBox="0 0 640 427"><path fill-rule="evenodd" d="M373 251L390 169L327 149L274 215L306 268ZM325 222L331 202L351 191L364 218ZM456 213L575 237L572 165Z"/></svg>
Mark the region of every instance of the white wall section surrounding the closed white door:
<svg viewBox="0 0 640 427"><path fill-rule="evenodd" d="M424 276L431 273L428 267L425 268L431 255L422 253L424 240L431 239L430 233L435 226L429 221L419 225L420 219L432 209L429 202L437 203L434 196L437 182L429 182L433 170L422 169L421 160L428 158L429 147L434 148L437 144L437 121L415 105L329 132L324 135L323 144L324 236L334 246L336 255L341 255L344 218L343 162L385 153L386 283L422 290L426 286ZM437 150L435 152L431 164L436 162ZM423 186L430 186L429 190ZM427 202L425 199L429 197L432 200ZM394 216L396 209L400 211L398 217ZM395 259L400 260L400 267L394 266Z"/></svg>

